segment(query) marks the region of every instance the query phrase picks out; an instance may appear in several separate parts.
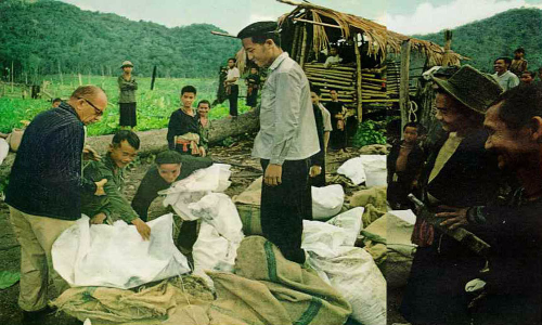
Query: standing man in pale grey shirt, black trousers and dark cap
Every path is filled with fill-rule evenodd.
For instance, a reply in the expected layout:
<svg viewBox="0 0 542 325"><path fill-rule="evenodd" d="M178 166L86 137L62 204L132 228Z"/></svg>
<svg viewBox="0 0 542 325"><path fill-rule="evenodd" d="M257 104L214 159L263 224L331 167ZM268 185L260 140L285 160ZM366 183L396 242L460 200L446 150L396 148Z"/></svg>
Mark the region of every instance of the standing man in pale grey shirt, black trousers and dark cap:
<svg viewBox="0 0 542 325"><path fill-rule="evenodd" d="M269 67L261 93L260 131L253 148L263 169L261 229L286 259L304 263L302 219L305 200L310 197L308 158L320 151L309 80L281 49L275 22L254 23L237 38L248 60Z"/></svg>

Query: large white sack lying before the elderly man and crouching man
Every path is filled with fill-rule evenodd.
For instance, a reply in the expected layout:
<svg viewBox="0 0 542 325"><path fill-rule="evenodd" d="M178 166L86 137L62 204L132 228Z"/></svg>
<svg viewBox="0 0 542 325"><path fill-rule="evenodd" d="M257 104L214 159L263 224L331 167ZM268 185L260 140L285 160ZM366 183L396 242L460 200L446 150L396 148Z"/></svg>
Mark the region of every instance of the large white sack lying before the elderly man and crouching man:
<svg viewBox="0 0 542 325"><path fill-rule="evenodd" d="M89 225L82 216L64 231L52 248L54 270L73 287L129 289L190 272L186 258L173 244L171 213L147 222L151 239L134 225Z"/></svg>

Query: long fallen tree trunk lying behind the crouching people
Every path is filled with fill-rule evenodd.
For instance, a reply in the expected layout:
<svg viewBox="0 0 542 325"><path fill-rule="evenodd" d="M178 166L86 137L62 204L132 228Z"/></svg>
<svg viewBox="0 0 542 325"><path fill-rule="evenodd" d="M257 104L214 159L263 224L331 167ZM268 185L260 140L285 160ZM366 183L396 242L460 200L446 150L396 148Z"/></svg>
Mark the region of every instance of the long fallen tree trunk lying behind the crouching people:
<svg viewBox="0 0 542 325"><path fill-rule="evenodd" d="M259 128L259 110L248 112L236 118L222 118L212 120L209 131L209 143L218 143L228 136L241 135L255 132ZM141 140L140 156L147 156L167 150L166 129L137 132ZM113 139L113 134L89 136L87 144L92 146L100 155L104 154ZM4 180L11 171L15 160L15 154L10 153L2 165L0 165L0 181Z"/></svg>

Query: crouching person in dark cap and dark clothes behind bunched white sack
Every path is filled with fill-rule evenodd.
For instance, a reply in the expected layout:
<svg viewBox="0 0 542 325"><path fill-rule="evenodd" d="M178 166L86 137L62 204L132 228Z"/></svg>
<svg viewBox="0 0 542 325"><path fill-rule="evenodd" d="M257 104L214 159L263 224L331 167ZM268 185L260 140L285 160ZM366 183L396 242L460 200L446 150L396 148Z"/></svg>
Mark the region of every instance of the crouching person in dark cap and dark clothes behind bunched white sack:
<svg viewBox="0 0 542 325"><path fill-rule="evenodd" d="M210 158L181 155L175 151L159 153L154 161L156 165L145 173L132 200L133 210L143 221L147 221L149 207L158 197L159 191L168 188L173 182L186 178L197 169L212 165ZM183 253L192 250L197 238L196 229L197 221L182 222L177 242L181 250L184 250Z"/></svg>

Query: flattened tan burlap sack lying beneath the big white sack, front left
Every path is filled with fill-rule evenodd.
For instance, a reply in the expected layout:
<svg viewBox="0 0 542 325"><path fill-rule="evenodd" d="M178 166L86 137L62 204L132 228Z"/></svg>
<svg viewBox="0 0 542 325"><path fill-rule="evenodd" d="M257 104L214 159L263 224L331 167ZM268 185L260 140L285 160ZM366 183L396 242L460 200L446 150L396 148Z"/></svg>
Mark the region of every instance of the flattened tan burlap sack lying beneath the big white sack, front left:
<svg viewBox="0 0 542 325"><path fill-rule="evenodd" d="M191 314L183 324L208 324L201 309L207 310L212 294L202 278L182 276L142 288L140 291L106 287L77 287L64 291L52 306L80 321L99 324L162 324L168 315ZM198 306L201 309L195 309ZM204 313L205 314L205 313Z"/></svg>

